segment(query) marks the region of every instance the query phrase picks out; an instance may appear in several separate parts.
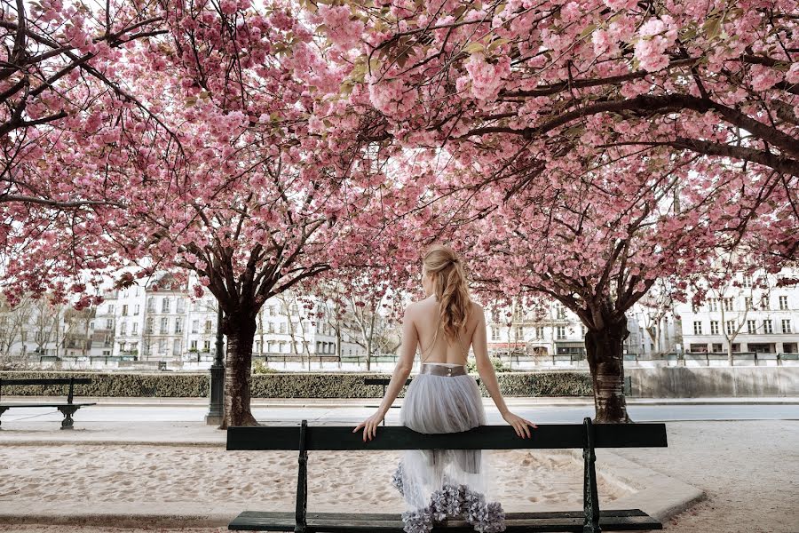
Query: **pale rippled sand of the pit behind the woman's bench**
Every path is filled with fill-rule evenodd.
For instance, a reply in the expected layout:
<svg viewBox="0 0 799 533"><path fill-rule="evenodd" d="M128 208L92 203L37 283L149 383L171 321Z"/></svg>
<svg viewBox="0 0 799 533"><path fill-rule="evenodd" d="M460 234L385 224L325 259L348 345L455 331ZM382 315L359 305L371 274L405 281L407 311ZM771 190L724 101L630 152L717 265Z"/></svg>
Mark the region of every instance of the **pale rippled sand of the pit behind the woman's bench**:
<svg viewBox="0 0 799 533"><path fill-rule="evenodd" d="M310 452L309 508L400 512L403 500L390 484L400 453ZM558 450L487 453L495 479L508 481L495 485L491 498L503 502L506 511L581 507L582 465L573 457ZM600 503L627 494L605 481L599 493ZM290 510L297 494L297 452L85 444L0 448L0 503L42 502L65 494L80 495L83 507L85 502L222 500L241 504L242 510Z"/></svg>

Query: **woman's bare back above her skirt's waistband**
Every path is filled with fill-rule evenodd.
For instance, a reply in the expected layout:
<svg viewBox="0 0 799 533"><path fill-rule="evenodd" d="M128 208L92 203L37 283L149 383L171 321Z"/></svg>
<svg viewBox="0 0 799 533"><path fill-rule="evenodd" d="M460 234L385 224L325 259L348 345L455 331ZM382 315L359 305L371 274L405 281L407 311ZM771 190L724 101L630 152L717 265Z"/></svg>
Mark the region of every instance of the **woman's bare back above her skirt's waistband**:
<svg viewBox="0 0 799 533"><path fill-rule="evenodd" d="M422 361L465 365L469 356L471 338L479 322L478 314L475 311L475 304L472 302L471 315L466 322L465 332L461 333L455 345L447 346L447 337L439 323L439 303L435 297L431 296L415 302L413 321L419 336L418 350L422 354ZM439 326L438 336L436 336L437 324ZM434 338L435 345L433 345Z"/></svg>

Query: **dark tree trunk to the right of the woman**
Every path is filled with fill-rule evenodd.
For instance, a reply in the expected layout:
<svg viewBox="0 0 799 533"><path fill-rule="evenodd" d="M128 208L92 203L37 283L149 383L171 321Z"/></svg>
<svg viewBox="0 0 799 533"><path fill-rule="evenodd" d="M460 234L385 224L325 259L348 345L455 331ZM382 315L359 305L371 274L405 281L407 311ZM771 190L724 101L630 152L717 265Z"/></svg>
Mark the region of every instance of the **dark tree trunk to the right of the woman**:
<svg viewBox="0 0 799 533"><path fill-rule="evenodd" d="M629 335L627 319L605 321L602 330L588 329L585 334L586 357L594 385L594 422L630 423L624 398L624 339Z"/></svg>

